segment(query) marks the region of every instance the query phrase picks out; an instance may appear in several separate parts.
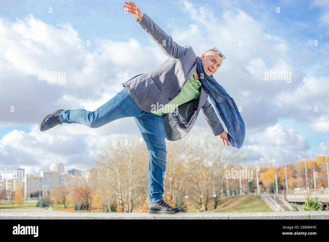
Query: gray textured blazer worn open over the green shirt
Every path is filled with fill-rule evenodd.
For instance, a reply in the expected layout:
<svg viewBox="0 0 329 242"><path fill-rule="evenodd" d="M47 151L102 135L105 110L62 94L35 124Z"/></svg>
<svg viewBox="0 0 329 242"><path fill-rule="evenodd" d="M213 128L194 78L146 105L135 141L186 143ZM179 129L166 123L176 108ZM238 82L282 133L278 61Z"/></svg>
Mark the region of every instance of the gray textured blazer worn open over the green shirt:
<svg viewBox="0 0 329 242"><path fill-rule="evenodd" d="M154 111L154 107L169 103L180 93L196 70L196 55L191 46L181 46L174 42L171 36L145 13L143 18L137 19L136 22L169 57L155 70L139 74L122 83L136 105L141 110L150 112ZM214 136L224 132L213 106L208 101L208 96L201 85L198 99L179 105L173 113L162 114L167 140L184 138L190 132L200 110Z"/></svg>

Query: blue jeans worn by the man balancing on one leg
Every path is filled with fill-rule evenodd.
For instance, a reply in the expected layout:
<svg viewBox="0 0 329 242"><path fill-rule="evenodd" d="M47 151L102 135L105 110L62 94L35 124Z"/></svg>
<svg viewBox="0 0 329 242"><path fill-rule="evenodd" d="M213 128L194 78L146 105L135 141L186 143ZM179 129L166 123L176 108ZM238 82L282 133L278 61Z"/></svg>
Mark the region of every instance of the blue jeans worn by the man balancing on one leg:
<svg viewBox="0 0 329 242"><path fill-rule="evenodd" d="M163 181L167 164L167 151L161 115L141 110L126 87L93 112L85 109L73 109L65 110L60 114L62 123L80 123L90 128L98 128L125 117L134 117L148 149L149 203L164 200L162 195L164 194Z"/></svg>

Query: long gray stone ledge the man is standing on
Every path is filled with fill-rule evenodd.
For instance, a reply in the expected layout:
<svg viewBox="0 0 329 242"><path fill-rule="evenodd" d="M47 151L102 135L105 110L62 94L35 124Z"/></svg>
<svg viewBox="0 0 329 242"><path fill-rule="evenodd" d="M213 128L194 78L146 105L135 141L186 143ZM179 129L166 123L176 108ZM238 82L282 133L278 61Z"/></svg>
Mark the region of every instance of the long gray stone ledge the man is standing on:
<svg viewBox="0 0 329 242"><path fill-rule="evenodd" d="M254 213L0 213L1 219L329 219L329 211Z"/></svg>

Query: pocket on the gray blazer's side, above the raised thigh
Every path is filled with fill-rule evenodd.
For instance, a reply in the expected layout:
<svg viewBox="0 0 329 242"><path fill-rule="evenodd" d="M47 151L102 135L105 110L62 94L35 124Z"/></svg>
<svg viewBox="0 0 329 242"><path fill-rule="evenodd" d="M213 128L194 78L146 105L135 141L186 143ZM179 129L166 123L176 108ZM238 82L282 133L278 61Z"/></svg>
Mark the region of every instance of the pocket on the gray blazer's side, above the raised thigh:
<svg viewBox="0 0 329 242"><path fill-rule="evenodd" d="M150 97L160 93L160 89L153 81L152 77L147 78L136 85L136 96L140 102L146 102Z"/></svg>

